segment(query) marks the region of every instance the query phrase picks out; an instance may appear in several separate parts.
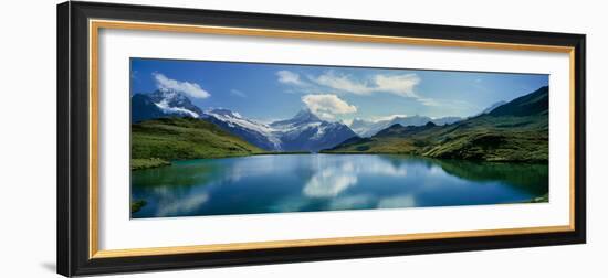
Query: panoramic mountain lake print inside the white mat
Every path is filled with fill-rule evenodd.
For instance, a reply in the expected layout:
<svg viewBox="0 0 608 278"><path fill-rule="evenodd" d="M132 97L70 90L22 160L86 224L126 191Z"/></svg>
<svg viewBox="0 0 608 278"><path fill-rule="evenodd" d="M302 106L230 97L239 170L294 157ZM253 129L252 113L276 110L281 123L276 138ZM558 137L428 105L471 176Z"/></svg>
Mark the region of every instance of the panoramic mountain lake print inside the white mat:
<svg viewBox="0 0 608 278"><path fill-rule="evenodd" d="M132 58L130 216L548 202L548 97L544 74Z"/></svg>

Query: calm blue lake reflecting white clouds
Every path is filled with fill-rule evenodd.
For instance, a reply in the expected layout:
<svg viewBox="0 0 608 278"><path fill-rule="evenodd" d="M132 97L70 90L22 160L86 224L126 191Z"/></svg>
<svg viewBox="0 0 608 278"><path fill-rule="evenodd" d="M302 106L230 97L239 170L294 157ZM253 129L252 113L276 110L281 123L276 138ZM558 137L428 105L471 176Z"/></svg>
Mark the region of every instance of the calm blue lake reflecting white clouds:
<svg viewBox="0 0 608 278"><path fill-rule="evenodd" d="M133 171L134 218L527 202L548 165L385 154L268 154Z"/></svg>

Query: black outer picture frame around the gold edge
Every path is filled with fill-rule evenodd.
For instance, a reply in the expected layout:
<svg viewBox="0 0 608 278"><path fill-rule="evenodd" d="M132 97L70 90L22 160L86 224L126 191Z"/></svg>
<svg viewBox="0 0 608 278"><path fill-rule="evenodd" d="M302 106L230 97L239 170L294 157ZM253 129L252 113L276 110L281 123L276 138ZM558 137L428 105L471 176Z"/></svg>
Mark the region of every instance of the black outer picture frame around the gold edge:
<svg viewBox="0 0 608 278"><path fill-rule="evenodd" d="M574 47L574 231L253 250L90 257L88 19ZM57 272L64 276L467 252L586 240L585 35L113 3L57 6ZM566 122L564 124L566 125Z"/></svg>

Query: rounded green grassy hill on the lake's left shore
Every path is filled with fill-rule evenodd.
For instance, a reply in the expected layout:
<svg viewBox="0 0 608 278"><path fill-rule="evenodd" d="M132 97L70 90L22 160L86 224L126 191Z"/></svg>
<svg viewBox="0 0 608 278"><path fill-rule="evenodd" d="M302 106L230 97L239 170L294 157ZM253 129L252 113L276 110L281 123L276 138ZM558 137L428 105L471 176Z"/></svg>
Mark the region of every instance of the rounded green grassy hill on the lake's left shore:
<svg viewBox="0 0 608 278"><path fill-rule="evenodd" d="M216 125L192 118L161 118L130 126L132 169L169 160L249 156L262 152Z"/></svg>

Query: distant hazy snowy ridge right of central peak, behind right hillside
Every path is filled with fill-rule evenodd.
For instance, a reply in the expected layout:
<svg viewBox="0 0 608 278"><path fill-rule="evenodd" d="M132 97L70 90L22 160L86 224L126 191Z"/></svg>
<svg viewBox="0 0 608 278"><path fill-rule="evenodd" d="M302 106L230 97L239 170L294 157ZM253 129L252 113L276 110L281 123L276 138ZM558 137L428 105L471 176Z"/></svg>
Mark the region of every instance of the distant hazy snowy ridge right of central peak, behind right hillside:
<svg viewBox="0 0 608 278"><path fill-rule="evenodd" d="M424 126L427 122L433 122L438 126L443 125L450 125L453 122L457 122L459 120L462 120L460 117L443 117L443 118L430 118L426 116L411 116L411 117L399 117L396 116L391 119L387 120L379 120L379 121L369 121L369 120L363 120L363 119L354 119L350 124L350 129L353 129L357 135L360 137L371 137L376 135L378 131L388 128L395 124L399 124L403 127L407 126Z"/></svg>

